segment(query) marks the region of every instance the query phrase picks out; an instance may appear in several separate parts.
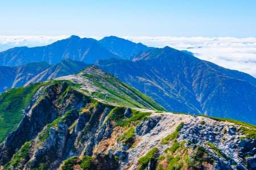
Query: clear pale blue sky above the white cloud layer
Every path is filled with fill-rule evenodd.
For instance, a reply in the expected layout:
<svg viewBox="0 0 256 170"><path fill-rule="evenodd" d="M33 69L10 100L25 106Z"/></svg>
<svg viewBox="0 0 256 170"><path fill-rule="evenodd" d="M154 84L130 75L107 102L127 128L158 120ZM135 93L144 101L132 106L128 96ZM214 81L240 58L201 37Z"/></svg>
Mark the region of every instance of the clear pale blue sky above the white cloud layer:
<svg viewBox="0 0 256 170"><path fill-rule="evenodd" d="M256 37L256 1L2 1L0 35Z"/></svg>

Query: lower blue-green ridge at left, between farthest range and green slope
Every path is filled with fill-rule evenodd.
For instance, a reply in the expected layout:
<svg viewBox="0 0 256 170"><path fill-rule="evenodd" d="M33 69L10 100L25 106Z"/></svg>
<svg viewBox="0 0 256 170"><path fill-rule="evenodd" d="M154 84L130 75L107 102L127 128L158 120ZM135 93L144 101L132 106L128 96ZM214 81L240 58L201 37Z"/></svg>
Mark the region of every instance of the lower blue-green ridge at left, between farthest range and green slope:
<svg viewBox="0 0 256 170"><path fill-rule="evenodd" d="M0 92L9 88L26 86L33 82L43 82L59 76L75 74L86 66L88 65L84 62L71 59L64 59L56 65L34 62L16 67L0 66Z"/></svg>

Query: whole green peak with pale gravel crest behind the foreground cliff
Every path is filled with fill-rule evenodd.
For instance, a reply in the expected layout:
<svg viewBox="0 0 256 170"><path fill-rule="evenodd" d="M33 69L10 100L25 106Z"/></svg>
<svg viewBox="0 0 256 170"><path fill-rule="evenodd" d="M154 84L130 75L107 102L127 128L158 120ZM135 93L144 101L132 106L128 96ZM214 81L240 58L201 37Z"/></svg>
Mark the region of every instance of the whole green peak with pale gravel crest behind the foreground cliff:
<svg viewBox="0 0 256 170"><path fill-rule="evenodd" d="M154 100L144 97L141 92L96 66L88 66L79 74L62 76L57 80L70 80L81 84L80 90L89 92L88 95L108 104L164 110Z"/></svg>

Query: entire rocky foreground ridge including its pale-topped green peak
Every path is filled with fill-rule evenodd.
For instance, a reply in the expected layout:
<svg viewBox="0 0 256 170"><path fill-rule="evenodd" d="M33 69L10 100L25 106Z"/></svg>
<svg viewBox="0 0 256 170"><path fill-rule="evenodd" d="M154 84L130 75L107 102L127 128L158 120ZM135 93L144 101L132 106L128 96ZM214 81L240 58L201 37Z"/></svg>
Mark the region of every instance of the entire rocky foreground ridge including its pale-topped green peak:
<svg viewBox="0 0 256 170"><path fill-rule="evenodd" d="M118 79L88 67L36 90L18 128L0 145L0 165L255 169L255 138L254 125L164 112Z"/></svg>

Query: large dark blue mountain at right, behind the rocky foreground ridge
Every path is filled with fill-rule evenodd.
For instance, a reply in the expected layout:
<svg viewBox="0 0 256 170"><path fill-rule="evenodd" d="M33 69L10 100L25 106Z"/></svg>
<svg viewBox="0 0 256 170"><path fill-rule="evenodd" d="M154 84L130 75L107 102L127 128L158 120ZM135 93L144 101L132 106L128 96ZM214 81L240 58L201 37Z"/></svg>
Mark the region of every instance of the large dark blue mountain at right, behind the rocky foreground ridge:
<svg viewBox="0 0 256 170"><path fill-rule="evenodd" d="M168 111L229 117L256 124L256 79L166 46L133 61L98 62Z"/></svg>

